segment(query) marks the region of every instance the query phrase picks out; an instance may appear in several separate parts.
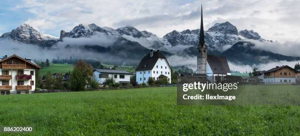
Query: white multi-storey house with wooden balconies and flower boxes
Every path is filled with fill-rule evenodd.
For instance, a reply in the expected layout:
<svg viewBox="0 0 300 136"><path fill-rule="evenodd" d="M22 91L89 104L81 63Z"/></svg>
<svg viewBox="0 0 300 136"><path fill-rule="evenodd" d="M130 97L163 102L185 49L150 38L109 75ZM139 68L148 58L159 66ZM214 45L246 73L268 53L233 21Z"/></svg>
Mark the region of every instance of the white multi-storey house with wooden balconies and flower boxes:
<svg viewBox="0 0 300 136"><path fill-rule="evenodd" d="M34 91L35 73L41 67L31 59L17 55L0 59L0 91L9 94L12 91Z"/></svg>

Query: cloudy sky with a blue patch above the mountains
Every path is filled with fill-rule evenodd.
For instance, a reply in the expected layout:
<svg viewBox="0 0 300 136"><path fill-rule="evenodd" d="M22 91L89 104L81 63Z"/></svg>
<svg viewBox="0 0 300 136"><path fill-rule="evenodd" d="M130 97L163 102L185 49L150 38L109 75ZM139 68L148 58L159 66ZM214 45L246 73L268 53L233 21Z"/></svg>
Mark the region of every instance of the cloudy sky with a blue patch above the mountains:
<svg viewBox="0 0 300 136"><path fill-rule="evenodd" d="M300 41L300 0L1 0L0 34L28 23L59 36L79 23L118 28L131 25L159 37L173 30L204 29L228 21L264 39Z"/></svg>

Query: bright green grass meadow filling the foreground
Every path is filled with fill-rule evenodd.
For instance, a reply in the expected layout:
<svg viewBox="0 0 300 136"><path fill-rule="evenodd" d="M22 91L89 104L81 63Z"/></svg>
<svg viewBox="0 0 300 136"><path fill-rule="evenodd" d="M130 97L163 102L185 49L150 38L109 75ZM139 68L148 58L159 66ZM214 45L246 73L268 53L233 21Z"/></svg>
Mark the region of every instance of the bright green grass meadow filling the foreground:
<svg viewBox="0 0 300 136"><path fill-rule="evenodd" d="M176 87L0 95L34 135L300 135L299 106L178 106Z"/></svg>

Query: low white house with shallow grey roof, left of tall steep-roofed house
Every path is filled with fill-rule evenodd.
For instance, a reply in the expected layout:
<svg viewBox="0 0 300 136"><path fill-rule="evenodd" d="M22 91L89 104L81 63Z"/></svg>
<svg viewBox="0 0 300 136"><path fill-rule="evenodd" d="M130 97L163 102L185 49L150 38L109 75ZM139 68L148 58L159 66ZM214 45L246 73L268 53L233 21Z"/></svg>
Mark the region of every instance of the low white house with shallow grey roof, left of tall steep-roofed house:
<svg viewBox="0 0 300 136"><path fill-rule="evenodd" d="M94 75L100 85L102 85L107 78L113 78L114 82L124 86L130 83L132 73L125 70L94 69Z"/></svg>

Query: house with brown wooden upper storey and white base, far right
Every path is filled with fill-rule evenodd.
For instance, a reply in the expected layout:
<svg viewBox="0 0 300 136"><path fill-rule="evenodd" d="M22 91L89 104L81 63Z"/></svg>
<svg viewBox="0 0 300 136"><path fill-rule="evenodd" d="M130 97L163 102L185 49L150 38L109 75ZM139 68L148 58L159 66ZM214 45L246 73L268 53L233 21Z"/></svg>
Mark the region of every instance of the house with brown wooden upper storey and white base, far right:
<svg viewBox="0 0 300 136"><path fill-rule="evenodd" d="M264 72L264 82L266 84L292 84L296 83L297 70L287 65L276 66Z"/></svg>

